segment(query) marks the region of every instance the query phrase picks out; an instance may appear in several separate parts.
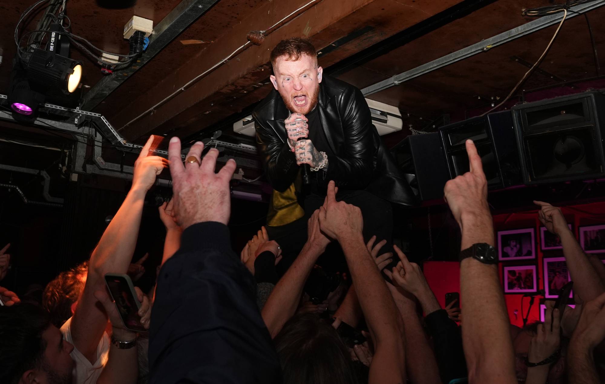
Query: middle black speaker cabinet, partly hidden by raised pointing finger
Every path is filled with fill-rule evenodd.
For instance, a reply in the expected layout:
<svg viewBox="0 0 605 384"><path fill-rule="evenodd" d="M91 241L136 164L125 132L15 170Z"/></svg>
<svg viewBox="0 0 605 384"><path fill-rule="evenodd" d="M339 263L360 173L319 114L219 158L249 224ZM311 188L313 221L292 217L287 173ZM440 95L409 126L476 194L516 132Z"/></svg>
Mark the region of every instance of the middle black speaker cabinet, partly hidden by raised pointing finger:
<svg viewBox="0 0 605 384"><path fill-rule="evenodd" d="M522 184L515 130L510 111L473 117L439 129L450 177L469 171L466 140L473 140L481 156L489 189Z"/></svg>

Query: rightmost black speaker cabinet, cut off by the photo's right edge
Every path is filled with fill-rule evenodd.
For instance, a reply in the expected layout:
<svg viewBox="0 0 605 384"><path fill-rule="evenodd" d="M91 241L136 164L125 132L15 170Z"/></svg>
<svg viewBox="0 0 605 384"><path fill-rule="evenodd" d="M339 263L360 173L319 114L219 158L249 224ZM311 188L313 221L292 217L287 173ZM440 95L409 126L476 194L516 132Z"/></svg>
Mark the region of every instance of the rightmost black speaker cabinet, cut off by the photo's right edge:
<svg viewBox="0 0 605 384"><path fill-rule="evenodd" d="M517 105L512 112L526 184L604 176L603 91Z"/></svg>

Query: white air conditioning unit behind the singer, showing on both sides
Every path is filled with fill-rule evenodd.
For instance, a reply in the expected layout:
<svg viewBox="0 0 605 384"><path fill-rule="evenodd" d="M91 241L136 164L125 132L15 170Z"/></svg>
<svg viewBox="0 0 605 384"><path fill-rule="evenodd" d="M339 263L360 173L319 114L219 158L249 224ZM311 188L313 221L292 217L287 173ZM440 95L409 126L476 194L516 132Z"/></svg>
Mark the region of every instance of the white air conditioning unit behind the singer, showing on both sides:
<svg viewBox="0 0 605 384"><path fill-rule="evenodd" d="M376 126L379 135L387 135L393 132L401 131L404 126L401 120L401 113L396 106L377 102L370 99L365 99L370 107L372 123ZM246 116L233 124L235 133L246 136L255 136L257 133L254 129L254 119L252 115Z"/></svg>

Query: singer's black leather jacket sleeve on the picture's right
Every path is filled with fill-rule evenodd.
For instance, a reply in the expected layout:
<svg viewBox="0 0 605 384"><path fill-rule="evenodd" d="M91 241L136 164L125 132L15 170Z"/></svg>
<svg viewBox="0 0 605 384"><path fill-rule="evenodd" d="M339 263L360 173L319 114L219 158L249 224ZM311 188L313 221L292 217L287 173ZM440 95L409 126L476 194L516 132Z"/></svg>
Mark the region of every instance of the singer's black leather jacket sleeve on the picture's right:
<svg viewBox="0 0 605 384"><path fill-rule="evenodd" d="M328 157L327 180L336 186L364 189L374 169L374 137L370 108L359 89L354 88L341 96L339 105L346 105L342 114L345 155Z"/></svg>

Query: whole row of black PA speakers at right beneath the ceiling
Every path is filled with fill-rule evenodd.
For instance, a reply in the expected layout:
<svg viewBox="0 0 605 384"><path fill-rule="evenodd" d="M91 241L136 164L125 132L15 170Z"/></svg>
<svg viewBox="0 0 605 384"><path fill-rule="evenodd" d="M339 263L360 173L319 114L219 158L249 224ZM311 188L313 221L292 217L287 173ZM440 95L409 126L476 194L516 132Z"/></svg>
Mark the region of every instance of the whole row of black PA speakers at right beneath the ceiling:
<svg viewBox="0 0 605 384"><path fill-rule="evenodd" d="M605 178L605 93L523 103L408 136L393 153L420 200L442 198L446 181L468 172L469 138L491 190Z"/></svg>

